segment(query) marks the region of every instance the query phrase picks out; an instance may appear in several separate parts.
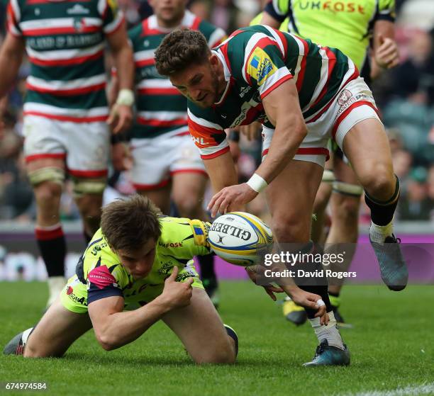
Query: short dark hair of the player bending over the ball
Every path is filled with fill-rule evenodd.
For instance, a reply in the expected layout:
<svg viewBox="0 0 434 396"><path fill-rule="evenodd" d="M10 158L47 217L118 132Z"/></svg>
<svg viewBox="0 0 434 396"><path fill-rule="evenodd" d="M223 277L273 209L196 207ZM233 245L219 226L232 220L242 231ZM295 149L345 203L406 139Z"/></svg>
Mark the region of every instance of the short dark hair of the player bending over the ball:
<svg viewBox="0 0 434 396"><path fill-rule="evenodd" d="M169 33L155 51L155 67L162 76L182 72L191 64L203 64L211 51L205 36L187 28Z"/></svg>

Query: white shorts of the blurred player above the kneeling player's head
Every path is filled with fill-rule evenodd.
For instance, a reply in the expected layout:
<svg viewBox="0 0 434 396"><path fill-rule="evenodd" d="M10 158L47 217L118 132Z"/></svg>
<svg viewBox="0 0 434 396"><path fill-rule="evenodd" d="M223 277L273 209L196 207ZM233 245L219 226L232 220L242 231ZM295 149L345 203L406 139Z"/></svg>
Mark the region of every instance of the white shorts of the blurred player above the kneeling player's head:
<svg viewBox="0 0 434 396"><path fill-rule="evenodd" d="M151 139L133 139L133 186L138 191L166 186L177 173L199 173L205 176L205 166L199 149L189 132L183 135L161 135Z"/></svg>

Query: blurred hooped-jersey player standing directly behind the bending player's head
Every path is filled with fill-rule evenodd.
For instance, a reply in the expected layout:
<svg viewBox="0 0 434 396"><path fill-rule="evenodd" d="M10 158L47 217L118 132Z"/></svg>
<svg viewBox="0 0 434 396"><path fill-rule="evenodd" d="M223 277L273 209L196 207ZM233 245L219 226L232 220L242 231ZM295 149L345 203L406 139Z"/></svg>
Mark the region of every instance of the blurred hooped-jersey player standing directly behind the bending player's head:
<svg viewBox="0 0 434 396"><path fill-rule="evenodd" d="M167 77L158 74L154 52L167 33L181 26L199 30L209 47L220 44L226 33L187 10L187 0L150 0L149 4L154 15L128 32L134 52L137 109L129 132L133 185L166 215L172 198L180 217L206 220L203 205L208 176L189 135L187 100ZM116 93L116 78L113 82ZM218 305L213 256L198 259L206 292Z"/></svg>

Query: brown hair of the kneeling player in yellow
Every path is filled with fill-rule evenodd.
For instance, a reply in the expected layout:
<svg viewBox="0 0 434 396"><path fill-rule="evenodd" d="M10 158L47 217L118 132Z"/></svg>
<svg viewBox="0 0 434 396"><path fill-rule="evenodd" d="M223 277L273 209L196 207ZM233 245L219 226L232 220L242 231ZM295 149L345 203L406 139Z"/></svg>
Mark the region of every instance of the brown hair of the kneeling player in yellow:
<svg viewBox="0 0 434 396"><path fill-rule="evenodd" d="M119 198L102 208L101 232L113 249L135 251L160 238L160 214L149 198L139 194Z"/></svg>

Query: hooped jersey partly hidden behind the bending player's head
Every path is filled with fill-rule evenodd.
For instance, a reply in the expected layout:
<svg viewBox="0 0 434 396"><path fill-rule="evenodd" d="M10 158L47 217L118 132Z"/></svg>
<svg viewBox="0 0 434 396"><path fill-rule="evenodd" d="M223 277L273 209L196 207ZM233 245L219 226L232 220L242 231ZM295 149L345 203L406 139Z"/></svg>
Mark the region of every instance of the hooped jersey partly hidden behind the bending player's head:
<svg viewBox="0 0 434 396"><path fill-rule="evenodd" d="M186 10L181 26L199 30L209 47L227 38L221 28L211 25ZM152 138L163 134L186 135L187 99L155 68L154 53L173 29L160 28L155 15L128 32L133 45L137 115L131 131L133 138Z"/></svg>

